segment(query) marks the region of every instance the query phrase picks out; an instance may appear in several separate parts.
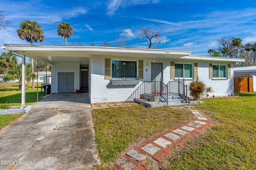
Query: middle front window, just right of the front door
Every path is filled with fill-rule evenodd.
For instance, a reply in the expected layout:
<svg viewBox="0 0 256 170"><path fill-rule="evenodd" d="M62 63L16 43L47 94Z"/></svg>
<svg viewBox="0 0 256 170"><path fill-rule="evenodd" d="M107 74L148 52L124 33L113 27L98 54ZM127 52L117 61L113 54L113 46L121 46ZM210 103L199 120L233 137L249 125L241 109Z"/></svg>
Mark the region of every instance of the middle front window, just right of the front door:
<svg viewBox="0 0 256 170"><path fill-rule="evenodd" d="M192 78L192 64L175 64L175 78Z"/></svg>

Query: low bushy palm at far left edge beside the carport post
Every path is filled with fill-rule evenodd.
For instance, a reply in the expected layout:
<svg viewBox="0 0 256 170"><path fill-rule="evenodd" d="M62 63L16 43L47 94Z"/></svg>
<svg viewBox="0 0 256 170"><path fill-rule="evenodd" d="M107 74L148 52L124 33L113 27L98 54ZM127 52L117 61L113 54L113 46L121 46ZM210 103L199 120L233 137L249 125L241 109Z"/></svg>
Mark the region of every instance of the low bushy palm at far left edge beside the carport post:
<svg viewBox="0 0 256 170"><path fill-rule="evenodd" d="M18 63L18 60L15 56L11 55L10 52L3 52L0 56L0 66L1 66L1 71L4 73L3 77L3 86L5 86L5 82L7 80L10 80L10 78L7 76L8 71L14 66L16 66Z"/></svg>

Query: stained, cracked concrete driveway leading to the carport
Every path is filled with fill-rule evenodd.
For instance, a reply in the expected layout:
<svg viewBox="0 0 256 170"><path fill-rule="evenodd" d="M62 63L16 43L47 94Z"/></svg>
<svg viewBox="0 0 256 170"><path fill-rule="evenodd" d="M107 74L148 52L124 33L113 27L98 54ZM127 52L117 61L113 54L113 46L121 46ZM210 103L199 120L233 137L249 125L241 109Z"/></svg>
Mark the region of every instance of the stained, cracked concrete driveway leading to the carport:
<svg viewBox="0 0 256 170"><path fill-rule="evenodd" d="M18 122L2 129L0 161L18 165L1 162L0 169L79 169L99 163L90 104L74 100L54 106L52 101L46 108L50 103L36 103Z"/></svg>

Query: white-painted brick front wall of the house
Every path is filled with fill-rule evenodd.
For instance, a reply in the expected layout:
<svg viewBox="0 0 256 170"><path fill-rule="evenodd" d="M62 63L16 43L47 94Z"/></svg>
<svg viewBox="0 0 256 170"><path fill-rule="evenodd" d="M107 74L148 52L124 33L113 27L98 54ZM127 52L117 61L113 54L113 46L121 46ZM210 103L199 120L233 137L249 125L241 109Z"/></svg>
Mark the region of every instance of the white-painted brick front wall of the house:
<svg viewBox="0 0 256 170"><path fill-rule="evenodd" d="M131 58L131 57L122 57L118 58L117 56L93 56L90 62L91 70L91 103L97 102L119 102L125 101L129 96L137 89L139 85L134 86L111 86L109 80L104 79L105 71L105 58L111 58L112 60L132 60L138 61L142 58ZM143 59L144 63L144 79L151 80L151 62L153 59ZM214 63L214 62L200 62L200 61L185 61L185 60L165 60L165 59L156 59L155 62L163 63L163 82L168 83L170 79L170 62L174 61L176 63L198 63L198 76L203 80L207 86L213 87L214 92L210 95L220 96L233 94L233 66L231 65L231 79L209 79L209 63L213 64L223 64L223 63ZM227 64L225 63L227 66ZM193 65L194 68L194 65ZM146 71L147 70L147 71ZM194 73L194 71L193 71ZM193 75L194 76L194 75ZM140 84L143 82L141 80ZM186 84L189 84L190 81L186 81Z"/></svg>

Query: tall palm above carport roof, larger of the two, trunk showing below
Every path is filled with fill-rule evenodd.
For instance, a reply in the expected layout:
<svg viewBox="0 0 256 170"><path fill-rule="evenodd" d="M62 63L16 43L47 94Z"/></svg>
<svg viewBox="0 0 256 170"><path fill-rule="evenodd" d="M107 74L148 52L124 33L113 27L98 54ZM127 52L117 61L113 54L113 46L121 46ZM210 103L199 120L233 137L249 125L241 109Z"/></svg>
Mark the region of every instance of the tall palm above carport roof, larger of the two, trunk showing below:
<svg viewBox="0 0 256 170"><path fill-rule="evenodd" d="M20 29L17 30L18 36L26 40L31 45L33 43L44 41L44 31L36 21L26 20L20 23ZM34 74L34 59L31 59L31 68ZM35 88L35 79L32 79L32 89Z"/></svg>

